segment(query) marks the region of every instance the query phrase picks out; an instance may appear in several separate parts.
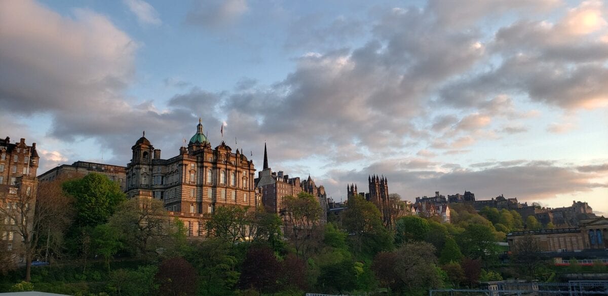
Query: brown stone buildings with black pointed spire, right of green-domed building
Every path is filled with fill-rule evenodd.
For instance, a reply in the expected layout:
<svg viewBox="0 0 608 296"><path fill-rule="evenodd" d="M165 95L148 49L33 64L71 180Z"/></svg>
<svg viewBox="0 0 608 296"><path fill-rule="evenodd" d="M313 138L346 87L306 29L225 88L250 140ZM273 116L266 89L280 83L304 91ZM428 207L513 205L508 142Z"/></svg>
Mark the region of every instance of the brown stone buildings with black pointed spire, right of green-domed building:
<svg viewBox="0 0 608 296"><path fill-rule="evenodd" d="M255 179L256 187L259 188L261 194L261 203L266 212L276 213L278 215L285 214L285 207L282 205L285 196L297 196L300 192L313 194L319 201L322 209L320 221L327 221L327 194L325 187L314 183L313 179L308 176L308 179L300 181L300 177L292 177L283 173L283 171L273 172L268 166L268 150L264 144L264 167L258 172L258 177Z"/></svg>

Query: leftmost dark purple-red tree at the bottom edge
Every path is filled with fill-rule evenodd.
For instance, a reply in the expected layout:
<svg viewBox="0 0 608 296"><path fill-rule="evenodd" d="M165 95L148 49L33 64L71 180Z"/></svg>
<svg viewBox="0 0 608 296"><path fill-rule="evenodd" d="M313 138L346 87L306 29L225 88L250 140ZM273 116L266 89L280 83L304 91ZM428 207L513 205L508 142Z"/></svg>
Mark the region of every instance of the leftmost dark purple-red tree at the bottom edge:
<svg viewBox="0 0 608 296"><path fill-rule="evenodd" d="M161 295L195 295L198 285L196 269L180 257L163 260L154 281L160 284Z"/></svg>

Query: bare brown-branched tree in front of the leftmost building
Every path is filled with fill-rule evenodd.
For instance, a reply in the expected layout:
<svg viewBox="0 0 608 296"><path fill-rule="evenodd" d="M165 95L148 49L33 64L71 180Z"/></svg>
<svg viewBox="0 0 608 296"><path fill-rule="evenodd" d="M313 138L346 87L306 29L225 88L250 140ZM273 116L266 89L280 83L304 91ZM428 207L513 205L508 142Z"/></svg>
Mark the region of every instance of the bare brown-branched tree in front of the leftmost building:
<svg viewBox="0 0 608 296"><path fill-rule="evenodd" d="M34 192L19 188L13 196L5 196L5 205L0 206L0 221L12 221L10 231L21 238L26 281L31 280L33 258L43 252L47 255L50 244L61 241L71 222L72 199L62 193L61 181L43 182Z"/></svg>

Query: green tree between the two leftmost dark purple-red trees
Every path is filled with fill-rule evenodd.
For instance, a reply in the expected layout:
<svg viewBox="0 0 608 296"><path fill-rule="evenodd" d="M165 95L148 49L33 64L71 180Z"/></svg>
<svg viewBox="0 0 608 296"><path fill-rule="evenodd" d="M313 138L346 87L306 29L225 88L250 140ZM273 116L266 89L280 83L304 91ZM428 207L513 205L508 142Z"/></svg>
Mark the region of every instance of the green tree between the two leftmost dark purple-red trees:
<svg viewBox="0 0 608 296"><path fill-rule="evenodd" d="M187 260L198 270L201 295L228 295L238 283L238 260L231 252L232 244L224 239L210 238L201 241Z"/></svg>

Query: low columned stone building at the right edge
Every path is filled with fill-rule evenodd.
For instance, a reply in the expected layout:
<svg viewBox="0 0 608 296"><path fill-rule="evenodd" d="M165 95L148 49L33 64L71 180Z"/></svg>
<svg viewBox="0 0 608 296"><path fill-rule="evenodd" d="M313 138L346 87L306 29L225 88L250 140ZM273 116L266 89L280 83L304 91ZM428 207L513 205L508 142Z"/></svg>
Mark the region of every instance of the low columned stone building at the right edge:
<svg viewBox="0 0 608 296"><path fill-rule="evenodd" d="M601 217L579 221L578 227L511 232L506 236L511 250L520 239L531 235L542 252L581 252L608 249L608 219Z"/></svg>

